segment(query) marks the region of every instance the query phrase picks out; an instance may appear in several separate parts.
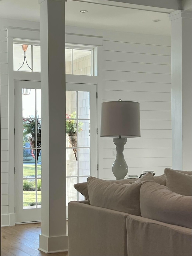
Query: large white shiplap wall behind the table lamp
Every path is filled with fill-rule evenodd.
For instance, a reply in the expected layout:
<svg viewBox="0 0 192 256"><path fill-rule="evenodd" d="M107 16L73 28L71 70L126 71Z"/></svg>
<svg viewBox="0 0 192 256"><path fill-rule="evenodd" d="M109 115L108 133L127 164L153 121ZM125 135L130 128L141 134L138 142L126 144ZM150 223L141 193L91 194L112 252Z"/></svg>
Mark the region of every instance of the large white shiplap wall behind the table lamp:
<svg viewBox="0 0 192 256"><path fill-rule="evenodd" d="M115 38L115 37L114 37ZM103 41L103 101L140 102L141 137L128 138L128 174L172 166L170 39L130 34ZM111 138L103 138L101 179L114 179Z"/></svg>

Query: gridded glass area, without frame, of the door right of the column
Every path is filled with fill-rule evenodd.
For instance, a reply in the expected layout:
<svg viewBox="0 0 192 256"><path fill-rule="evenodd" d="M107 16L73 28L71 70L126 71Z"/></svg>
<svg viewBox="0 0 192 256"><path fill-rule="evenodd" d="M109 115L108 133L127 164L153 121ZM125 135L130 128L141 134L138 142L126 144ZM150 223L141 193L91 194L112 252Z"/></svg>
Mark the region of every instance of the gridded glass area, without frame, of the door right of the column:
<svg viewBox="0 0 192 256"><path fill-rule="evenodd" d="M66 182L67 204L84 200L73 185L91 175L90 92L66 91Z"/></svg>

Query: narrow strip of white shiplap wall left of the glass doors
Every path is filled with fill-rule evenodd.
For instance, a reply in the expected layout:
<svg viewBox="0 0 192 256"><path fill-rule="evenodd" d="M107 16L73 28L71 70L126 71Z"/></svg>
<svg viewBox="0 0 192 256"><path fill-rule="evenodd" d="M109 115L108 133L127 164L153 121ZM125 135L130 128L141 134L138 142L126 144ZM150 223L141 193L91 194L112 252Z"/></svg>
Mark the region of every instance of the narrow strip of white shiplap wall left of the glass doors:
<svg viewBox="0 0 192 256"><path fill-rule="evenodd" d="M9 224L8 184L8 64L7 31L0 30L0 85L1 85L1 220Z"/></svg>

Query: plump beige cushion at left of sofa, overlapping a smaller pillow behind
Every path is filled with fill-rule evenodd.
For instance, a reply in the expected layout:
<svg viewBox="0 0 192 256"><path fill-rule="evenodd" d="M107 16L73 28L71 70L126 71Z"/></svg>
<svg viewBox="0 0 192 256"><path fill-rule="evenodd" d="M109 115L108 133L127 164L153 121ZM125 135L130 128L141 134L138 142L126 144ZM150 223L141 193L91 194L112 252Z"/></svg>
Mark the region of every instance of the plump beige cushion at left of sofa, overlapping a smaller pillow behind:
<svg viewBox="0 0 192 256"><path fill-rule="evenodd" d="M139 197L142 182L128 185L94 177L87 180L91 205L141 216Z"/></svg>

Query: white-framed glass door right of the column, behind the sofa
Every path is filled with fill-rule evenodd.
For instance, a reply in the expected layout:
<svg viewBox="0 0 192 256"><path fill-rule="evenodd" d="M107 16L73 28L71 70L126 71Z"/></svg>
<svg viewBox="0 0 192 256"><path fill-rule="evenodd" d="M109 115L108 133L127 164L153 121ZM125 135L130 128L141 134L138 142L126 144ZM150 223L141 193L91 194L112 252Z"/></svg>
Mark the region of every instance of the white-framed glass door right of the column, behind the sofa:
<svg viewBox="0 0 192 256"><path fill-rule="evenodd" d="M66 182L67 205L84 200L73 187L97 177L96 85L66 84Z"/></svg>

